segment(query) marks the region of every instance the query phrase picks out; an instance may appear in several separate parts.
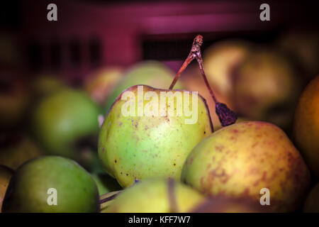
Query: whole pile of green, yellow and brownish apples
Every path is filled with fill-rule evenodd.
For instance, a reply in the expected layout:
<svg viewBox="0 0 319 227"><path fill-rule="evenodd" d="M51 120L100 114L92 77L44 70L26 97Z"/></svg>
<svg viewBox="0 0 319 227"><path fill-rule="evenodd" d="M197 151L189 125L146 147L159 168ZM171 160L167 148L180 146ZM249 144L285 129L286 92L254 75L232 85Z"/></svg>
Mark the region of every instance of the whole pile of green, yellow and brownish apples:
<svg viewBox="0 0 319 227"><path fill-rule="evenodd" d="M319 76L303 81L285 54L241 40L202 60L202 42L175 77L145 61L99 70L82 89L33 80L28 135L1 133L1 211L319 212ZM191 91L198 121L124 116L125 92L136 110L150 102L139 85Z"/></svg>

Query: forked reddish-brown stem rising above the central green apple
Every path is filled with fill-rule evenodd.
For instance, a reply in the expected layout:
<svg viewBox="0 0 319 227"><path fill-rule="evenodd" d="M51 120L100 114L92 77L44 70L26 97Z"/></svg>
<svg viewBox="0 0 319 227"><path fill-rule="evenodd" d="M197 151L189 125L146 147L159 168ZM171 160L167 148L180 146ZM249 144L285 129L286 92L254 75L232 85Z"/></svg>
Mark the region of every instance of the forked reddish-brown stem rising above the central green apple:
<svg viewBox="0 0 319 227"><path fill-rule="evenodd" d="M191 52L189 52L189 56L184 61L183 65L181 65L181 68L179 69L179 72L177 72L177 75L174 77L174 80L169 86L169 89L173 89L174 85L177 82L177 79L179 79L179 76L181 72L183 72L187 65L191 63L194 58L196 58L199 69L201 70L201 75L203 76L204 82L206 84L206 87L211 94L211 97L213 98L213 101L215 102L215 108L216 108L216 114L218 115L219 121L222 126L228 126L230 124L233 124L237 120L236 114L231 111L226 104L220 103L213 92L213 89L211 89L211 86L208 83L208 79L206 77L206 74L203 70L203 59L201 57L201 45L203 44L203 36L202 35L196 35L196 38L194 38L193 45L191 46Z"/></svg>

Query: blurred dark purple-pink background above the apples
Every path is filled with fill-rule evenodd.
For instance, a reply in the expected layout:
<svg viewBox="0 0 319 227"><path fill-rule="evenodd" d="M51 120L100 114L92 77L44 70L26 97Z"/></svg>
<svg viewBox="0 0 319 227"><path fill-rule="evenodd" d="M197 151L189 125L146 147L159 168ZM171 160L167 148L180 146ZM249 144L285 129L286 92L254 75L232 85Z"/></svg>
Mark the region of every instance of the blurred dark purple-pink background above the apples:
<svg viewBox="0 0 319 227"><path fill-rule="evenodd" d="M50 3L57 4L58 21L47 21ZM11 4L10 32L21 43L26 72L56 72L79 81L96 67L145 59L177 70L197 33L206 48L222 38L267 43L286 28L317 26L315 1L267 1L271 21L266 22L259 20L262 3L21 0Z"/></svg>

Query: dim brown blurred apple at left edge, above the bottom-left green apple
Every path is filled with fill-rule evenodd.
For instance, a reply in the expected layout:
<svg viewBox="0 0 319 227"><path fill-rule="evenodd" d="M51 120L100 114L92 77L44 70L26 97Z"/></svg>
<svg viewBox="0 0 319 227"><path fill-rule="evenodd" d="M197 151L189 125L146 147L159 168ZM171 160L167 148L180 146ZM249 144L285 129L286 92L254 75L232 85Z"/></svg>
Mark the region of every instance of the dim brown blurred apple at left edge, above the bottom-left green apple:
<svg viewBox="0 0 319 227"><path fill-rule="evenodd" d="M0 165L16 170L24 162L43 155L39 146L21 133L0 134Z"/></svg>

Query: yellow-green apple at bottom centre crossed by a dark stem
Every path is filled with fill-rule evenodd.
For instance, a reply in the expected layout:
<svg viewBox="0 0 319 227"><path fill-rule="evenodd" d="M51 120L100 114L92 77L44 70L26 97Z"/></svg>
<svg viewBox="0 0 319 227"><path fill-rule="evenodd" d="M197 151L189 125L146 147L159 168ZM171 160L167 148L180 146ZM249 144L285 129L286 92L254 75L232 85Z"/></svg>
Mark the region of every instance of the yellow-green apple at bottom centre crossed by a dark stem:
<svg viewBox="0 0 319 227"><path fill-rule="evenodd" d="M174 194L177 206L172 207ZM169 181L167 179L147 179L138 182L128 189L125 189L112 201L105 213L169 213L187 212L198 204L201 204L205 197L191 187L174 183L174 189L169 192Z"/></svg>

